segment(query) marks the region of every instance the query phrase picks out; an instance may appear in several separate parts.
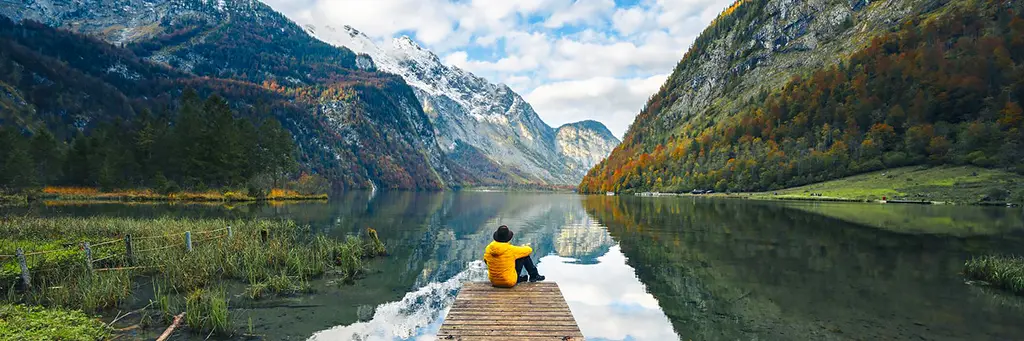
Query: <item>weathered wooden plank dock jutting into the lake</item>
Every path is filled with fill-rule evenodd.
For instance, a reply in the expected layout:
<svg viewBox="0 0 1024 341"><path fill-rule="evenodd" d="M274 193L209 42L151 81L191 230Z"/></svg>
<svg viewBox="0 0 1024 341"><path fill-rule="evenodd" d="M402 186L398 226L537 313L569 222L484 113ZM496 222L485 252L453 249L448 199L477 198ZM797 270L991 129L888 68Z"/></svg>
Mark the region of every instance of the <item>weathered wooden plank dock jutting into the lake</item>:
<svg viewBox="0 0 1024 341"><path fill-rule="evenodd" d="M580 341L584 337L555 283L521 283L512 289L467 283L437 339Z"/></svg>

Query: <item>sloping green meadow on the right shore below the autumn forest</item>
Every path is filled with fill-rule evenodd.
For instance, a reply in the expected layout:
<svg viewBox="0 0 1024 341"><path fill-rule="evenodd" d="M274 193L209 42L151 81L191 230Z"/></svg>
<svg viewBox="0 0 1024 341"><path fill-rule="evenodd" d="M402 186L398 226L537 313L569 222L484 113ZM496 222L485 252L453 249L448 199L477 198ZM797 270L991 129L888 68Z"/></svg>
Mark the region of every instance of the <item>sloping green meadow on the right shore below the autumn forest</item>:
<svg viewBox="0 0 1024 341"><path fill-rule="evenodd" d="M858 201L886 198L975 204L981 202L992 188L1008 189L1011 198L1024 200L1024 176L972 166L903 167L755 194L755 197L841 198ZM811 197L811 194L821 194L822 197Z"/></svg>

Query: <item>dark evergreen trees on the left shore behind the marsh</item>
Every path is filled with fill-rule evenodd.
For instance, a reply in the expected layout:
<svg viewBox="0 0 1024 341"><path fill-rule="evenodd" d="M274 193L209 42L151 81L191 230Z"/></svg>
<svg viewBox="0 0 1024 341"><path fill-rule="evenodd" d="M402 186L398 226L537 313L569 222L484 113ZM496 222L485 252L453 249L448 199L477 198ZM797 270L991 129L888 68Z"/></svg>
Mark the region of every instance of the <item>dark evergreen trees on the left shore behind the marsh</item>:
<svg viewBox="0 0 1024 341"><path fill-rule="evenodd" d="M0 186L43 185L102 189L147 187L249 188L258 195L298 170L291 133L268 118L254 124L218 95L186 89L176 110L143 110L131 121L112 120L70 140L45 127L0 127Z"/></svg>

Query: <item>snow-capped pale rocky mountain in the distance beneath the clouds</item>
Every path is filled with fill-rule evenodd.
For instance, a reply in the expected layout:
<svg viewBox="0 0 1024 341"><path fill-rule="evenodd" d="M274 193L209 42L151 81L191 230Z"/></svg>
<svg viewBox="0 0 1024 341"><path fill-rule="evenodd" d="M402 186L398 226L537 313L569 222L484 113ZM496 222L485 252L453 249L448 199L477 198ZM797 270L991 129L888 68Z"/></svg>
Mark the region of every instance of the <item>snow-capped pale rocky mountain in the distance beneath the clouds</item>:
<svg viewBox="0 0 1024 341"><path fill-rule="evenodd" d="M409 37L381 46L348 26L305 28L327 42L369 55L381 71L401 76L415 89L444 153L482 182L575 184L618 143L594 121L548 126L508 86L445 66ZM481 162L489 167L474 167Z"/></svg>

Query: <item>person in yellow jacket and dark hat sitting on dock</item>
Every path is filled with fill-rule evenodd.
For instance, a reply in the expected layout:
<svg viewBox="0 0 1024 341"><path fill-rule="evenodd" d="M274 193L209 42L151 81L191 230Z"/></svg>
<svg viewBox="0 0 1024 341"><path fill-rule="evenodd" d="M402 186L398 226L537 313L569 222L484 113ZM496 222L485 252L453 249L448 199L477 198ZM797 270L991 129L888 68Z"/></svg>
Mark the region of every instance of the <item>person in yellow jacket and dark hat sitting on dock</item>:
<svg viewBox="0 0 1024 341"><path fill-rule="evenodd" d="M521 282L540 282L544 276L537 271L534 260L529 254L534 249L529 246L514 246L509 244L512 241L512 230L509 226L502 225L494 233L494 242L483 250L483 261L487 263L487 280L490 285L499 288L512 288ZM522 269L526 269L529 276L522 274Z"/></svg>

